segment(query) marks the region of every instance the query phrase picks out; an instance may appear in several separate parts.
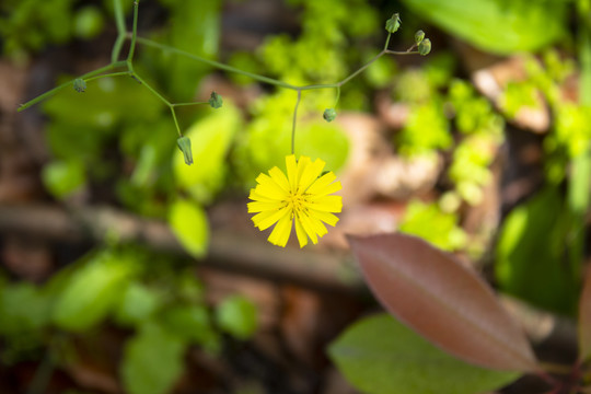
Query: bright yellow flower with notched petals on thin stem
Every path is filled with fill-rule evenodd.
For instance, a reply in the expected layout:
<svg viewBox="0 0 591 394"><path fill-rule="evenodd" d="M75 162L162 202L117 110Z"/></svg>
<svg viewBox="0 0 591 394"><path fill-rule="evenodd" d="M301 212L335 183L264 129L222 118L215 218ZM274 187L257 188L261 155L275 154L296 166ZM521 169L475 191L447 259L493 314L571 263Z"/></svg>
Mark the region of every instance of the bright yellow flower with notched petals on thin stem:
<svg viewBox="0 0 591 394"><path fill-rule="evenodd" d="M269 235L270 243L286 246L292 222L300 247L308 244L309 236L317 243L318 236L328 232L323 222L336 224L338 218L332 212L340 212L343 198L331 194L340 190L340 182L334 182L333 172L322 175L325 164L306 157L296 161L291 154L286 157L287 176L276 166L269 170L269 175L258 175L258 184L248 196L253 200L248 202L248 212L258 212L253 222L260 231L277 223Z"/></svg>

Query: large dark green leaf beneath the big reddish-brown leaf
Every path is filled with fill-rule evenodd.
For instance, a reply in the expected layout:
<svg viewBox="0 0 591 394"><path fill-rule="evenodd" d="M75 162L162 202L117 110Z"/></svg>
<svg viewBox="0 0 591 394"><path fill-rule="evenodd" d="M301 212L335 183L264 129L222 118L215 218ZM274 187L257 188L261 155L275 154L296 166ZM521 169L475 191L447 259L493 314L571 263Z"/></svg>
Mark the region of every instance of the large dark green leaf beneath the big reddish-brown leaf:
<svg viewBox="0 0 591 394"><path fill-rule="evenodd" d="M345 376L368 394L474 394L520 375L463 362L386 314L357 322L328 352Z"/></svg>

